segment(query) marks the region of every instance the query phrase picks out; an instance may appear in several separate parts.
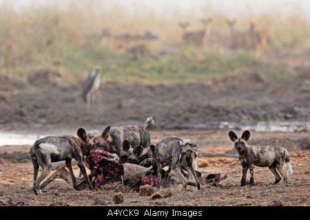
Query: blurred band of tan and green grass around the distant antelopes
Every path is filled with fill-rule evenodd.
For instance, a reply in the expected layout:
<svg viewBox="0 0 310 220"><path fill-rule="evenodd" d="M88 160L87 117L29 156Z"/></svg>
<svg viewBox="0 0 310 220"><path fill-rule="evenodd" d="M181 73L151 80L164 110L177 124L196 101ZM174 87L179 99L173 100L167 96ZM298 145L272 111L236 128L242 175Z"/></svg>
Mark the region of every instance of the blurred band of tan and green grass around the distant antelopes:
<svg viewBox="0 0 310 220"><path fill-rule="evenodd" d="M121 8L104 10L97 3L87 1L74 3L66 9L53 5L30 6L23 10L15 10L9 3L0 6L0 71L22 80L44 67L59 68L71 74L73 80L85 78L98 67L107 81L142 83L207 82L231 72L256 72L265 80L293 76L287 74L291 70L276 62L256 58L251 52L229 52L225 46L230 40L229 28L223 14L217 12L211 13L214 25L205 52L181 43L178 21L189 20L189 30L201 30L198 17L192 14L173 19L143 12L132 15ZM253 18L238 18L236 29L246 32L249 20ZM255 22L258 30L267 32L268 47L277 52L300 42L303 45L310 36L309 23L302 18L282 21L273 14L255 18ZM157 59L132 60L125 54L125 48L117 48L118 42L98 39L105 28L112 28L114 35L141 34L149 30L159 36L159 41L149 43L152 49L157 49L154 48L156 45L177 52L168 52ZM123 47L127 46L123 44Z"/></svg>

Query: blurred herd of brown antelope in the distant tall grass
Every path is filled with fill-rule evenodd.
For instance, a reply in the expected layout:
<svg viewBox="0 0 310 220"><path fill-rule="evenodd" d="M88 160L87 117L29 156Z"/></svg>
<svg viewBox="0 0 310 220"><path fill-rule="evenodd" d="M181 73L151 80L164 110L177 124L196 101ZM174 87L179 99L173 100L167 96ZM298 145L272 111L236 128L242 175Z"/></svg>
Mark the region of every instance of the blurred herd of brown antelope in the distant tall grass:
<svg viewBox="0 0 310 220"><path fill-rule="evenodd" d="M198 30L188 30L189 22L179 22L178 26L182 32L181 39L183 43L188 45L195 45L199 48L205 48L208 44L211 32L211 24L213 19L201 19L202 26ZM235 19L226 19L227 27L229 30L229 39L226 46L230 50L251 50L254 51L256 56L260 56L267 46L267 32L258 30L254 22L249 23L249 28L244 31L236 29ZM153 32L147 30L143 34L113 34L112 30L105 28L97 39L113 40L116 47L125 49L126 54L131 54L132 59L143 57L155 58L152 51L150 51L145 41L157 41L159 37ZM143 43L141 43L143 41Z"/></svg>

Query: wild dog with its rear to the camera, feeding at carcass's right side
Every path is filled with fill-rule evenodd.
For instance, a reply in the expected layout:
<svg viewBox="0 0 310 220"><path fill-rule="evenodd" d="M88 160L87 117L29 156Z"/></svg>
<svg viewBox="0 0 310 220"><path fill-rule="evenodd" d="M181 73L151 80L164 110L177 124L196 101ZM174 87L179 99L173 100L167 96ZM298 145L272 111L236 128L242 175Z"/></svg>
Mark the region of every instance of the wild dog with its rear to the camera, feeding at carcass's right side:
<svg viewBox="0 0 310 220"><path fill-rule="evenodd" d="M196 175L196 157L197 157L197 145L193 144L189 139L182 140L179 137L165 137L158 142L156 146L152 146L154 159L157 166L157 187L161 187L162 169L165 166L169 166L167 174L171 170L178 179L182 182L183 187L189 184L189 181L184 176L184 170L189 170L189 173L194 177L198 189L200 189L200 183ZM192 185L192 183L191 183Z"/></svg>

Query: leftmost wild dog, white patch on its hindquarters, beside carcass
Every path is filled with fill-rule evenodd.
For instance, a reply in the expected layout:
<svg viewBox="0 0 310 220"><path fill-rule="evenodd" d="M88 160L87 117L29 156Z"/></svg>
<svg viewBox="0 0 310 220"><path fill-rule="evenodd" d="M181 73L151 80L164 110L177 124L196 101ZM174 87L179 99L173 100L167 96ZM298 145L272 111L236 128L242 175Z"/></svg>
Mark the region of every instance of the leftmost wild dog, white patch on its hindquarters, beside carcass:
<svg viewBox="0 0 310 220"><path fill-rule="evenodd" d="M34 142L30 149L30 157L34 166L34 184L33 190L36 195L43 194L40 183L50 174L52 170L52 162L65 160L65 165L70 171L74 189L77 189L76 179L72 170L71 160L76 159L76 162L83 174L83 177L90 189L93 189L88 179L85 166L83 164L83 155L87 155L90 149L94 146L92 140L87 136L84 129L77 131L78 137L74 136L48 136L43 137ZM37 178L41 166L42 173Z"/></svg>

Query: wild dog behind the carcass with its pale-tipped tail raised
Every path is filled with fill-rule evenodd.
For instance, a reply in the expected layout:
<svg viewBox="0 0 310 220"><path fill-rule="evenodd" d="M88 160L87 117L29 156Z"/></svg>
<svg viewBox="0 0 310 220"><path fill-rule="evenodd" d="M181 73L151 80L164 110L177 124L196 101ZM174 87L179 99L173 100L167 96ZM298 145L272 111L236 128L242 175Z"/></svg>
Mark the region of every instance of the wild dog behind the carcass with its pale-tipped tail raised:
<svg viewBox="0 0 310 220"><path fill-rule="evenodd" d="M153 126L154 120L152 117L148 117L141 125L116 126L112 128L107 126L100 136L94 137L94 144L106 146L105 151L116 153L119 157L123 151L124 140L128 140L130 146L141 144L143 148L148 147L151 144L151 138L147 130Z"/></svg>

